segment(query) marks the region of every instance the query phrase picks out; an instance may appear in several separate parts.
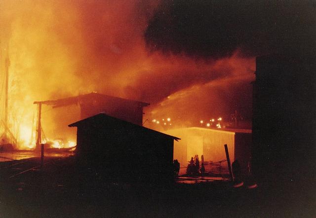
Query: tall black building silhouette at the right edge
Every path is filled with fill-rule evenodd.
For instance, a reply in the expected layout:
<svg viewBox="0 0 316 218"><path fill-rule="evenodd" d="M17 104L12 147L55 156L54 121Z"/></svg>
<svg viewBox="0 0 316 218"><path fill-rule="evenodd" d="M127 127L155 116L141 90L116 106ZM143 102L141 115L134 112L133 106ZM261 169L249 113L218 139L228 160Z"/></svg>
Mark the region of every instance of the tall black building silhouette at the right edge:
<svg viewBox="0 0 316 218"><path fill-rule="evenodd" d="M257 57L252 125L257 178L315 178L315 74L315 57Z"/></svg>

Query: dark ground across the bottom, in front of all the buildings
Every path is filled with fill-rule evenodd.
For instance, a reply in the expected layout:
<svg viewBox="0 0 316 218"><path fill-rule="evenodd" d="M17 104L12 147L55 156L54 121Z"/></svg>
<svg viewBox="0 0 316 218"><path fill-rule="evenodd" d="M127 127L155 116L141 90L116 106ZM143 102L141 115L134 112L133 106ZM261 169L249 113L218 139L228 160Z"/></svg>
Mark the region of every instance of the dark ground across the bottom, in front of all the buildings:
<svg viewBox="0 0 316 218"><path fill-rule="evenodd" d="M74 158L0 163L0 217L315 218L315 189L230 182L150 185L110 181ZM25 173L25 170L31 169ZM22 174L21 174L22 173Z"/></svg>

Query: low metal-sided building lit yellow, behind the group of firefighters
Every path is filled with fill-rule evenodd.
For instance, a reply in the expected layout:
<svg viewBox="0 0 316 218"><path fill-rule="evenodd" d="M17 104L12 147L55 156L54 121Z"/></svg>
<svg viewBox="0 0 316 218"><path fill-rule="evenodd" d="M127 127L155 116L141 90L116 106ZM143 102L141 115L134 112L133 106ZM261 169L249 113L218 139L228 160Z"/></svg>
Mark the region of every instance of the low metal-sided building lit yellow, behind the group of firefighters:
<svg viewBox="0 0 316 218"><path fill-rule="evenodd" d="M177 135L181 141L175 142L173 159L178 159L182 166L196 154L204 161L218 162L226 160L224 145L227 144L231 162L236 159L242 168L246 168L252 145L251 130L206 129L199 127L174 129L166 132Z"/></svg>

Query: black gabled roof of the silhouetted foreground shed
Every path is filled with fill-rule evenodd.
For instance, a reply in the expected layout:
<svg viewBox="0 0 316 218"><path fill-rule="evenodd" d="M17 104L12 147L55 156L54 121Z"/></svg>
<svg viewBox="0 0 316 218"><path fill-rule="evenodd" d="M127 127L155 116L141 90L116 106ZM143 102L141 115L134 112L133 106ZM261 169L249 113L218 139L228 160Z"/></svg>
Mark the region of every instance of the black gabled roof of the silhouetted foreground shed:
<svg viewBox="0 0 316 218"><path fill-rule="evenodd" d="M121 125L123 124L124 126L127 126L129 128L135 128L135 129L142 130L142 131L145 131L148 133L154 133L154 134L170 137L176 141L180 140L180 138L178 138L178 137L170 136L170 135L158 132L156 130L152 130L152 129L149 129L149 128L146 128L143 126L139 126L139 125L136 125L134 123L127 122L127 121L118 119L118 118L113 117L113 116L109 116L105 113L99 113L99 114L96 114L94 116L90 116L86 119L82 119L82 120L79 120L75 123L69 124L68 126L69 127L81 127L81 126L85 126L85 125L89 125L89 124L96 124L96 123L106 124L106 123L111 123L111 122L118 123Z"/></svg>

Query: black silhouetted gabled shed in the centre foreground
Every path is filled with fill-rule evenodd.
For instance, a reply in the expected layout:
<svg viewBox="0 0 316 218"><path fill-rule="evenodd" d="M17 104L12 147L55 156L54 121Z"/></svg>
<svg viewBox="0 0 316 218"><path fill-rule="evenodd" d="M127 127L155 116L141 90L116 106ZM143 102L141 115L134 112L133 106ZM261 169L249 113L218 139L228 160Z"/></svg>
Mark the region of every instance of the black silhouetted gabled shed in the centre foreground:
<svg viewBox="0 0 316 218"><path fill-rule="evenodd" d="M173 179L173 141L179 140L100 113L70 124L77 130L80 162L128 180Z"/></svg>

